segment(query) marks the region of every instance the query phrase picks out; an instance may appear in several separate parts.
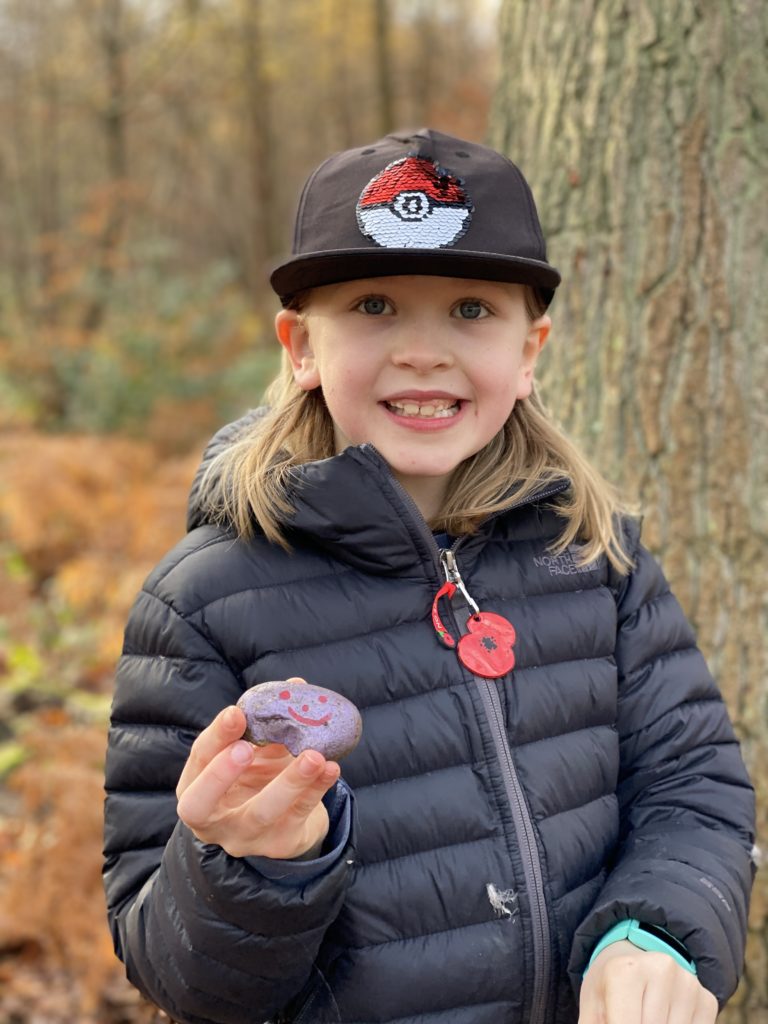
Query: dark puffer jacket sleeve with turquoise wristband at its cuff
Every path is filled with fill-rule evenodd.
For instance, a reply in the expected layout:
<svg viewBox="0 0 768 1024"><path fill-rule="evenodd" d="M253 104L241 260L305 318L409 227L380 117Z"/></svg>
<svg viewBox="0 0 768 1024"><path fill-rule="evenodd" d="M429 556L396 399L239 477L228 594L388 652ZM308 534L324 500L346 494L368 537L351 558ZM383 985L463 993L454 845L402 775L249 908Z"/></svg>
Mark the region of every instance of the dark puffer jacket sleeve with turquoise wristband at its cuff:
<svg viewBox="0 0 768 1024"><path fill-rule="evenodd" d="M743 961L754 791L693 631L639 543L617 610L621 845L577 930L571 981L578 991L595 944L635 918L685 945L722 1006Z"/></svg>

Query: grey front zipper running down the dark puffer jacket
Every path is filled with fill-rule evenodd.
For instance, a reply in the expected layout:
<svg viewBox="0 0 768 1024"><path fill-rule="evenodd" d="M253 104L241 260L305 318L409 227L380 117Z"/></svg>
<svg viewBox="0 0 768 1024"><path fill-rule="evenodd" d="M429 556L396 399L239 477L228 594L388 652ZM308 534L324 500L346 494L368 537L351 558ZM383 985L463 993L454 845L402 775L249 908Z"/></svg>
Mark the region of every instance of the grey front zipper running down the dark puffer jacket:
<svg viewBox="0 0 768 1024"><path fill-rule="evenodd" d="M442 565L445 580L454 584L458 593L462 595L473 612L477 613L477 604L467 591L459 571L459 566L456 563L455 551L458 545L455 544L452 548L443 548L440 551L440 564ZM453 605L452 615L460 633L466 632L460 626L456 609ZM525 803L525 796L519 775L517 774L509 740L507 739L504 712L499 691L496 688L494 680L483 679L474 674L472 678L480 691L485 716L490 726L496 755L504 778L504 787L512 809L515 837L522 858L525 888L530 899L534 937L534 990L530 998L528 1024L544 1024L547 1016L547 991L552 973L552 950L547 898L544 894L544 876L542 872L542 861L539 856L539 847L536 842L536 831L527 804Z"/></svg>

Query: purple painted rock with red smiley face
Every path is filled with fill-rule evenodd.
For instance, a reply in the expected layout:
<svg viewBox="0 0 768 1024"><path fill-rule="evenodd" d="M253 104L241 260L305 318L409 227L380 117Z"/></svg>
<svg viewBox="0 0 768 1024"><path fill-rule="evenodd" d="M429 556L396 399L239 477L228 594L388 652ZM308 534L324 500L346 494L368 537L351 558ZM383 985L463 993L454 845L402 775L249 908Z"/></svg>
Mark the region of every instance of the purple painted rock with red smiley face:
<svg viewBox="0 0 768 1024"><path fill-rule="evenodd" d="M243 693L238 707L247 721L244 739L258 746L283 743L294 757L312 750L338 761L354 750L362 733L351 700L310 683L259 683Z"/></svg>

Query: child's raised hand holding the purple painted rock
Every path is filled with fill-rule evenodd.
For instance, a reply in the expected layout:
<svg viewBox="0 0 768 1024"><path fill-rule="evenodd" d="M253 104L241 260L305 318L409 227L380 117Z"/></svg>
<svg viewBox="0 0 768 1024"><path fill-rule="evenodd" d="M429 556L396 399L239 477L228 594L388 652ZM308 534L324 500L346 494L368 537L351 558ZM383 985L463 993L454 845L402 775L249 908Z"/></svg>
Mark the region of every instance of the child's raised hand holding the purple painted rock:
<svg viewBox="0 0 768 1024"><path fill-rule="evenodd" d="M279 743L253 746L240 738L245 727L232 706L197 737L176 786L179 818L233 857L316 853L329 826L322 800L339 766L317 751L294 758Z"/></svg>

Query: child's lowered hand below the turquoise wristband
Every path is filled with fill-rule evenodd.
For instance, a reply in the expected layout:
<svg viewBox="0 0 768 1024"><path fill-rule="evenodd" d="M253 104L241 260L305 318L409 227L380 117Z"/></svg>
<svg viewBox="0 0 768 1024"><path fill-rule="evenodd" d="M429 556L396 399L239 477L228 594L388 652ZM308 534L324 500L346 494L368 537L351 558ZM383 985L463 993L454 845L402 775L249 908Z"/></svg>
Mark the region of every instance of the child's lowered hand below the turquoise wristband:
<svg viewBox="0 0 768 1024"><path fill-rule="evenodd" d="M667 953L613 942L582 985L579 1024L714 1024L718 1004Z"/></svg>

